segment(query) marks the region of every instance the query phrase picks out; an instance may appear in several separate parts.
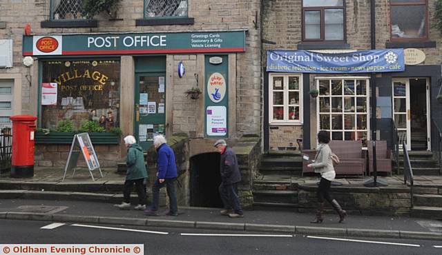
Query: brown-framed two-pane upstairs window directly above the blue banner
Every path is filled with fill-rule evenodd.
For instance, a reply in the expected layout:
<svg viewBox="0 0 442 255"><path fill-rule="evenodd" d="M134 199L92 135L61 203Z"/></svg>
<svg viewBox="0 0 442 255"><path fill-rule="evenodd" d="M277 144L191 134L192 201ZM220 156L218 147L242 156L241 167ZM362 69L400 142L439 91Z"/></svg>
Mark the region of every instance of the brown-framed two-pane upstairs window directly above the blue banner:
<svg viewBox="0 0 442 255"><path fill-rule="evenodd" d="M345 41L344 0L303 0L302 41Z"/></svg>

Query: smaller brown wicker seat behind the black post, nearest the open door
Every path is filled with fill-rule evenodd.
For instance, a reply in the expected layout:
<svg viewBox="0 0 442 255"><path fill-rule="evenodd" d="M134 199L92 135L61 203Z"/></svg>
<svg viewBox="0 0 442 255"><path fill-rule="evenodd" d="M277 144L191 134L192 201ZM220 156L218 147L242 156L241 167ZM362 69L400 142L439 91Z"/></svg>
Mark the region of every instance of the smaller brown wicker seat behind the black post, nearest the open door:
<svg viewBox="0 0 442 255"><path fill-rule="evenodd" d="M368 141L368 170L373 172L373 142ZM376 141L376 171L392 175L392 152L387 149L387 141Z"/></svg>

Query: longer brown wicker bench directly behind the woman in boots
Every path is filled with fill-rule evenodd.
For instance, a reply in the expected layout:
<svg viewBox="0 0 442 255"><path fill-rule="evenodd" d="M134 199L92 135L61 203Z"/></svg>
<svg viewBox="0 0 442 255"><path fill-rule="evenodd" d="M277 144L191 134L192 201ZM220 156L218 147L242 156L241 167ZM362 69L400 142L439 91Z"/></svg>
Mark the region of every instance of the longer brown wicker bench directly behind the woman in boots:
<svg viewBox="0 0 442 255"><path fill-rule="evenodd" d="M362 150L361 141L330 141L329 147L340 159L340 163L334 166L336 175L365 174L366 152ZM313 160L316 150L302 150L302 154ZM307 161L302 161L302 175L314 172L314 169L307 167L307 164Z"/></svg>

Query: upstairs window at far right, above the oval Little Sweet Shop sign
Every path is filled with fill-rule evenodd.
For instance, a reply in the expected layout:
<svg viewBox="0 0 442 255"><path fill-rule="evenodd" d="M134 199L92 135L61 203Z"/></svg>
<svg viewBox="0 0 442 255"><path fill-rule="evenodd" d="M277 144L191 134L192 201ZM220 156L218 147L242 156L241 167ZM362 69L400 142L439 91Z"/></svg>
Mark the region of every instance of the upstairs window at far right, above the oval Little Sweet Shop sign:
<svg viewBox="0 0 442 255"><path fill-rule="evenodd" d="M427 0L390 0L390 21L392 41L427 39Z"/></svg>

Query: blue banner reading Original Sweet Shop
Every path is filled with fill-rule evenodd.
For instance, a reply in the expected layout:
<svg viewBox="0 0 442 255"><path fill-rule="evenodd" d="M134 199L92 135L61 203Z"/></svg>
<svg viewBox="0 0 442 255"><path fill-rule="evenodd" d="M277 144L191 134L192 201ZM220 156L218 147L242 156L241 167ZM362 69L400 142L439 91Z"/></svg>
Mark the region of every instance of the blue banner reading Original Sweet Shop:
<svg viewBox="0 0 442 255"><path fill-rule="evenodd" d="M403 72L403 49L320 53L307 50L268 50L267 72L355 73Z"/></svg>

